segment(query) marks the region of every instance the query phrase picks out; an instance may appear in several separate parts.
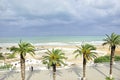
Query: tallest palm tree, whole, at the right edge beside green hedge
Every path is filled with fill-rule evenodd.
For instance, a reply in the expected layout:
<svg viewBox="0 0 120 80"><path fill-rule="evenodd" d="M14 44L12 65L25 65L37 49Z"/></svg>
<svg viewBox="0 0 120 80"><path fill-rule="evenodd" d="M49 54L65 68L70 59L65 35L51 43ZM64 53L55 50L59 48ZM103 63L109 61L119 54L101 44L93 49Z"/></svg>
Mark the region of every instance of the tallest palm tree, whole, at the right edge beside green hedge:
<svg viewBox="0 0 120 80"><path fill-rule="evenodd" d="M110 72L109 72L109 77L112 79L112 67L113 67L113 62L114 62L114 54L115 54L115 49L116 46L120 45L120 35L117 35L115 33L112 33L110 36L106 35L107 38L104 39L103 45L109 45L111 54L110 54Z"/></svg>

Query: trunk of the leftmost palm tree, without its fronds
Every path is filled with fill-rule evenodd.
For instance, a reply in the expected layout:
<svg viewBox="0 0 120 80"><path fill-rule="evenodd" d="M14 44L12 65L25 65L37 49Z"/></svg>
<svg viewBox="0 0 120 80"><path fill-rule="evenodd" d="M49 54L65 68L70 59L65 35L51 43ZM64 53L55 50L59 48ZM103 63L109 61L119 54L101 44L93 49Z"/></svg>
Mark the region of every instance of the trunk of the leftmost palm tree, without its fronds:
<svg viewBox="0 0 120 80"><path fill-rule="evenodd" d="M25 59L22 54L20 54L20 64L21 64L21 78L25 80Z"/></svg>

